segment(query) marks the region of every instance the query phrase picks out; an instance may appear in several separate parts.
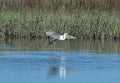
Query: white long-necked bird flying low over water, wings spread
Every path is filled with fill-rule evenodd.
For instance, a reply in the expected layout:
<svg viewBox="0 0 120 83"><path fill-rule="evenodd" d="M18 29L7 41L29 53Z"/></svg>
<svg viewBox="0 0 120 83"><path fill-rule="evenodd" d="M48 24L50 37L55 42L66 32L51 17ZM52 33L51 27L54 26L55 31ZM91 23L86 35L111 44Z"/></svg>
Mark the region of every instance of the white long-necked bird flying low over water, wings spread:
<svg viewBox="0 0 120 83"><path fill-rule="evenodd" d="M65 39L75 39L76 37L64 33L63 35L57 34L55 32L46 32L46 35L53 38L54 40L65 40Z"/></svg>

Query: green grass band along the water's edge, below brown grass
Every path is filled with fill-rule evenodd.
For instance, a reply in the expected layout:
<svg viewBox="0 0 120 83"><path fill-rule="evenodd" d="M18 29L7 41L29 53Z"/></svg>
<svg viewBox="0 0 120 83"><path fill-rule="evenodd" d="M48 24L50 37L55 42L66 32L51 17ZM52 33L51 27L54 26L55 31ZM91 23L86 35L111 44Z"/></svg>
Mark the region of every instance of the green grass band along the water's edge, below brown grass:
<svg viewBox="0 0 120 83"><path fill-rule="evenodd" d="M68 13L0 13L0 36L37 38L46 31L67 32L79 38L120 37L120 16L107 12Z"/></svg>

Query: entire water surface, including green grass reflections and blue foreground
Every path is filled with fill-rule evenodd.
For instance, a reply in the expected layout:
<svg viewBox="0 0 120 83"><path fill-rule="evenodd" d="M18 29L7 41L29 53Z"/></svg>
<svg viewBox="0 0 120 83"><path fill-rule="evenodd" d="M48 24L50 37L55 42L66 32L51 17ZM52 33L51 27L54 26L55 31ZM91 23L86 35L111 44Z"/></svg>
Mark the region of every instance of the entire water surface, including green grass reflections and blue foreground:
<svg viewBox="0 0 120 83"><path fill-rule="evenodd" d="M119 41L0 41L1 83L120 83Z"/></svg>

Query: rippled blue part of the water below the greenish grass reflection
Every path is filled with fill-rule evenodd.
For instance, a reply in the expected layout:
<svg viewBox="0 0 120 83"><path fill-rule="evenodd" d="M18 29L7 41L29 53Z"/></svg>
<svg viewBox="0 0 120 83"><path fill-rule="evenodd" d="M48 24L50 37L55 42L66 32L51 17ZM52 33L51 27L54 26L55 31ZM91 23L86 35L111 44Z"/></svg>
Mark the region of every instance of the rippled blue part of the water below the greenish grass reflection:
<svg viewBox="0 0 120 83"><path fill-rule="evenodd" d="M120 83L120 55L1 52L1 83Z"/></svg>

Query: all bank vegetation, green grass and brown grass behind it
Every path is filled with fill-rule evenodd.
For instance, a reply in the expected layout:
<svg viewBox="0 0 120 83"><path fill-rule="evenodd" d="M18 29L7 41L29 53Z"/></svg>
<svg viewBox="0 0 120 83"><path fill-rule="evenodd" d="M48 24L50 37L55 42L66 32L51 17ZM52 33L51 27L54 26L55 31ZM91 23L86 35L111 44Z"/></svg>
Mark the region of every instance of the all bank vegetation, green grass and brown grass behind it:
<svg viewBox="0 0 120 83"><path fill-rule="evenodd" d="M0 0L1 38L120 39L120 0Z"/></svg>

